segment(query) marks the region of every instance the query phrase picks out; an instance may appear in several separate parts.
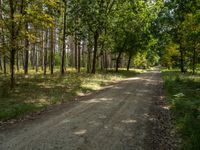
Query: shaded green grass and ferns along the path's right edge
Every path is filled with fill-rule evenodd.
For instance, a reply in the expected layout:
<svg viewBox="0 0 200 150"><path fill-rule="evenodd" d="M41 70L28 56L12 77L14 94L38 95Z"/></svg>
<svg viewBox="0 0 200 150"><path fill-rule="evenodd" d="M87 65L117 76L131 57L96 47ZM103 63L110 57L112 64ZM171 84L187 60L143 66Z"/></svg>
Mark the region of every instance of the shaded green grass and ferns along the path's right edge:
<svg viewBox="0 0 200 150"><path fill-rule="evenodd" d="M200 75L163 70L167 100L182 135L182 150L200 150Z"/></svg>

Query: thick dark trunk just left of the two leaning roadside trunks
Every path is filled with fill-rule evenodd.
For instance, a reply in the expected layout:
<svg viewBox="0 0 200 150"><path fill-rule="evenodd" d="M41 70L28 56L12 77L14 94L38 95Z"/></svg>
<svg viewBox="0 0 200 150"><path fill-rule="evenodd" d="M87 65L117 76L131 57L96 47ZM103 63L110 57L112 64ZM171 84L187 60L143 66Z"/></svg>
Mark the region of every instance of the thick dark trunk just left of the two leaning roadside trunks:
<svg viewBox="0 0 200 150"><path fill-rule="evenodd" d="M92 63L92 73L96 73L96 57L97 57L97 49L98 49L98 38L99 33L96 31L94 33L94 54L93 54L93 63Z"/></svg>

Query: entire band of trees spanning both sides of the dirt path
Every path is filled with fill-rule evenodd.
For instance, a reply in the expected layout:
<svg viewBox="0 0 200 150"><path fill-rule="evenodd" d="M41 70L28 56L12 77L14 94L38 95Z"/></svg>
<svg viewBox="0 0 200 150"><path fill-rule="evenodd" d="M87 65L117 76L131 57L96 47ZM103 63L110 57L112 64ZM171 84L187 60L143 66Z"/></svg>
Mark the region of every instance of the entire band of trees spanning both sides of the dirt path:
<svg viewBox="0 0 200 150"><path fill-rule="evenodd" d="M199 60L199 0L0 0L0 70L88 73ZM178 61L177 61L178 60ZM8 67L9 66L9 67ZM8 71L9 68L10 70Z"/></svg>

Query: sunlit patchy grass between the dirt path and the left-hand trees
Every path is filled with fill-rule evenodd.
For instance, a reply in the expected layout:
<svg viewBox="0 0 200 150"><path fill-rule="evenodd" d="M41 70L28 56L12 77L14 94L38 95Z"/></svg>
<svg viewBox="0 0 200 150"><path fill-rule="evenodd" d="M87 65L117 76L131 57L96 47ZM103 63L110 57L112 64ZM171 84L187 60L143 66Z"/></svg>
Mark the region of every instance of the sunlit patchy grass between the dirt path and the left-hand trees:
<svg viewBox="0 0 200 150"><path fill-rule="evenodd" d="M110 70L108 73L97 74L76 73L68 70L66 75L60 76L59 70L54 75L42 75L30 70L28 77L24 77L23 71L16 73L16 87L9 90L9 75L0 74L0 120L20 118L26 114L43 110L46 107L73 100L75 96L81 96L102 86L131 77L139 70L126 72L123 69L119 73ZM49 73L49 72L48 72Z"/></svg>

